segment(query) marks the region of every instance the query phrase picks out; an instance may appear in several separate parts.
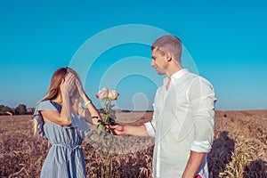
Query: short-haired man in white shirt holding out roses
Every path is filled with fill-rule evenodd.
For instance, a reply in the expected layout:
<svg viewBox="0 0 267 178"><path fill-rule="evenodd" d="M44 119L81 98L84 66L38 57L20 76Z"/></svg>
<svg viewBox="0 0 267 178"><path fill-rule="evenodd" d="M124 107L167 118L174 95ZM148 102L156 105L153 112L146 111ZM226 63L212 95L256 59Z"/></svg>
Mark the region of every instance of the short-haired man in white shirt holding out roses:
<svg viewBox="0 0 267 178"><path fill-rule="evenodd" d="M176 36L162 36L151 46L158 75L166 75L157 90L151 122L115 125L116 134L154 136L152 176L208 177L206 153L214 137L213 86L203 77L182 69L182 43Z"/></svg>

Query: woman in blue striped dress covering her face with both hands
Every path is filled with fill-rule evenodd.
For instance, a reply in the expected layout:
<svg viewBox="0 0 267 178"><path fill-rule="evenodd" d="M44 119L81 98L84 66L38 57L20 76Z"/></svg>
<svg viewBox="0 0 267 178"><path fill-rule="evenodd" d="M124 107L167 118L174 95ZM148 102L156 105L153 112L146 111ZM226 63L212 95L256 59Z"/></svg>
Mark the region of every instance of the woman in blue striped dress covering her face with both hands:
<svg viewBox="0 0 267 178"><path fill-rule="evenodd" d="M39 134L52 144L40 177L86 177L81 143L90 128L85 119L97 125L101 116L85 94L77 72L61 68L53 73L48 93L37 103L34 118L35 134L39 128Z"/></svg>

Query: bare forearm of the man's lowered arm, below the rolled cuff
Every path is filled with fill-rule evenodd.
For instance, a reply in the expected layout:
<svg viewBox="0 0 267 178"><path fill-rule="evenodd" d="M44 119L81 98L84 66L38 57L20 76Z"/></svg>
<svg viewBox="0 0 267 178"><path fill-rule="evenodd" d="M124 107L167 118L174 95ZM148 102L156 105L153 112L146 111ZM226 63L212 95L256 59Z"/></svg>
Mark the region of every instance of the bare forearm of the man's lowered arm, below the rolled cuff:
<svg viewBox="0 0 267 178"><path fill-rule="evenodd" d="M182 178L192 178L197 174L199 167L206 157L205 152L190 151L190 158L182 174Z"/></svg>

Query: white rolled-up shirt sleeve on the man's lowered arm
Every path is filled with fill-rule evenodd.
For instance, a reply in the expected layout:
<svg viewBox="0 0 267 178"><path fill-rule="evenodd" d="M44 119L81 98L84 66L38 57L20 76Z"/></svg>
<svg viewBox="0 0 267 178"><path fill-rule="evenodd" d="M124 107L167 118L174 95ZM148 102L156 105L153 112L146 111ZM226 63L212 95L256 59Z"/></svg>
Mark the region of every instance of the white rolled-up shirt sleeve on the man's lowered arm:
<svg viewBox="0 0 267 178"><path fill-rule="evenodd" d="M190 150L209 152L214 139L213 86L205 79L196 79L190 87L191 109L194 117L194 140Z"/></svg>

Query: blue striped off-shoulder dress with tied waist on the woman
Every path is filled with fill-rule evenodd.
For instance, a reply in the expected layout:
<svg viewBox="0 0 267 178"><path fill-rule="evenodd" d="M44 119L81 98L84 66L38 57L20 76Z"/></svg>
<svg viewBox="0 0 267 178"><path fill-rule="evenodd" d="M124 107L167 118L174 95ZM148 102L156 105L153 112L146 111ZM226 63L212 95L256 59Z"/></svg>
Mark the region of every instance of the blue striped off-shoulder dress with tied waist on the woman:
<svg viewBox="0 0 267 178"><path fill-rule="evenodd" d="M58 110L61 106L53 101L41 101L35 110L34 118L38 121L39 134L51 142L52 147L45 158L41 178L84 178L85 158L81 143L90 131L83 117L72 115L69 126L44 123L41 110Z"/></svg>

